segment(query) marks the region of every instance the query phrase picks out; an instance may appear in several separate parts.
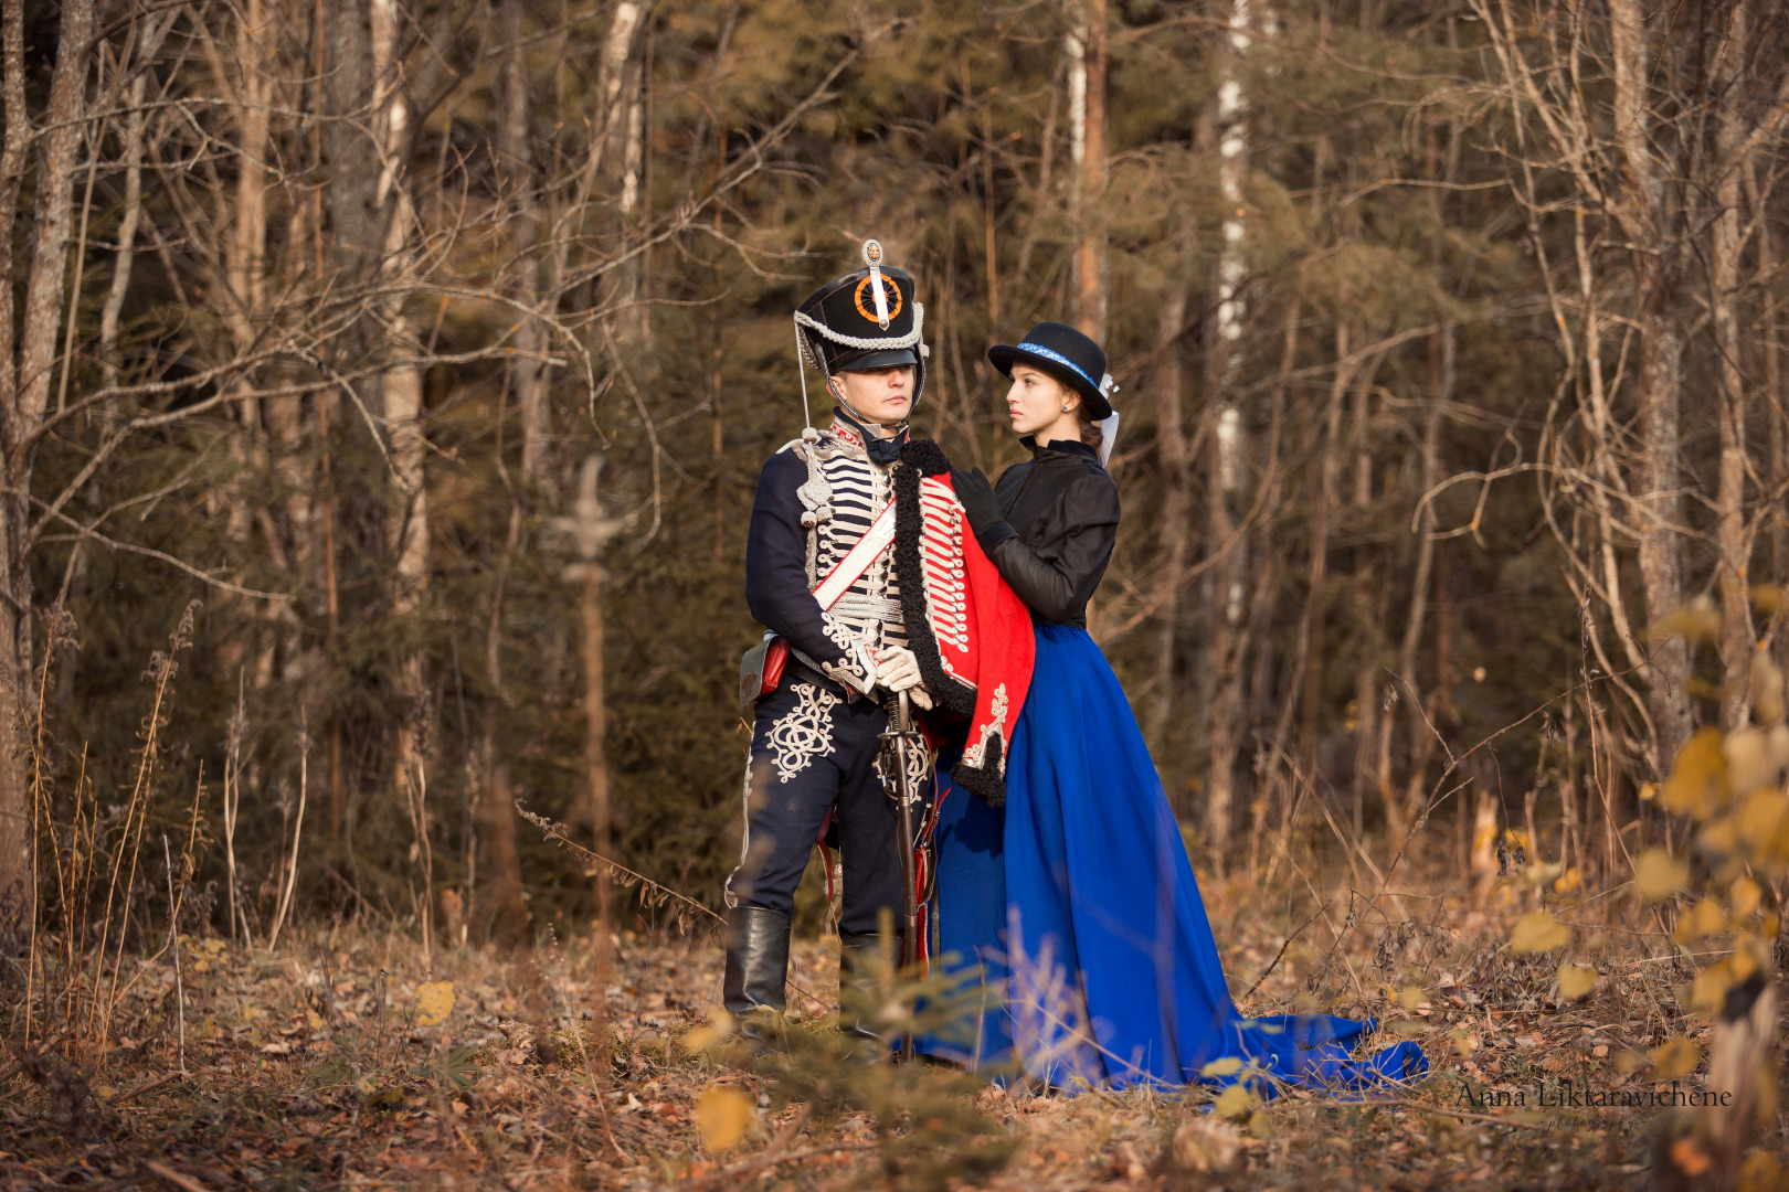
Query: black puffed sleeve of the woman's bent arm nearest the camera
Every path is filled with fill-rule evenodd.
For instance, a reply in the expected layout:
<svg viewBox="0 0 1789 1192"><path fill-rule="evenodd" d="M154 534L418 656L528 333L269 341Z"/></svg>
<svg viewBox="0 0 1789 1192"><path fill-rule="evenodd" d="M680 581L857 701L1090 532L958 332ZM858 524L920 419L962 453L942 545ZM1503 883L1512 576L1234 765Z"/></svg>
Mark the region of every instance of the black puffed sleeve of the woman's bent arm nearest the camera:
<svg viewBox="0 0 1789 1192"><path fill-rule="evenodd" d="M982 543L1013 592L1045 622L1081 615L1100 586L1118 540L1118 486L1109 475L1090 472L1070 484L1059 500L1063 536L1041 550L1027 547L1016 531Z"/></svg>

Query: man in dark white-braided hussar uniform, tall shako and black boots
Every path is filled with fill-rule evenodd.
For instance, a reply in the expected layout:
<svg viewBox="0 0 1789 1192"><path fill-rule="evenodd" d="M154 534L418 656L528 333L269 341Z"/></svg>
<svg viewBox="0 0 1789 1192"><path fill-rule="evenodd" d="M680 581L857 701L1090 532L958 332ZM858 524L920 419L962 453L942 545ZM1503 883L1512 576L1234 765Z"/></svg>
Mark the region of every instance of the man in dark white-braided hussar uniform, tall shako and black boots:
<svg viewBox="0 0 1789 1192"><path fill-rule="evenodd" d="M794 315L800 365L827 377L834 409L764 465L746 540L746 602L780 638L766 636L767 663L742 668L757 711L723 997L748 1033L757 1012L784 1010L794 890L828 815L843 860L841 985L877 947L882 910L900 922L898 817L877 754L891 693L930 706L889 549L894 463L925 388L923 316L912 275L884 266L877 241L864 243L864 268ZM805 370L801 402L807 415Z"/></svg>

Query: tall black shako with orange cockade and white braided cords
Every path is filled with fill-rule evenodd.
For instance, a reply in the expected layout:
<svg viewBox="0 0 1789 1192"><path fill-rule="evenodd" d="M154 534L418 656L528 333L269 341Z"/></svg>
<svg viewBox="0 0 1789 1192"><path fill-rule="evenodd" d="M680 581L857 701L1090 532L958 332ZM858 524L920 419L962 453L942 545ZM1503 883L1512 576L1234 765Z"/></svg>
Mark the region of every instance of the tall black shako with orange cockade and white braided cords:
<svg viewBox="0 0 1789 1192"><path fill-rule="evenodd" d="M882 245L864 241L864 268L816 290L794 313L803 363L825 375L912 365L912 402L925 391L925 307L912 273L882 264Z"/></svg>

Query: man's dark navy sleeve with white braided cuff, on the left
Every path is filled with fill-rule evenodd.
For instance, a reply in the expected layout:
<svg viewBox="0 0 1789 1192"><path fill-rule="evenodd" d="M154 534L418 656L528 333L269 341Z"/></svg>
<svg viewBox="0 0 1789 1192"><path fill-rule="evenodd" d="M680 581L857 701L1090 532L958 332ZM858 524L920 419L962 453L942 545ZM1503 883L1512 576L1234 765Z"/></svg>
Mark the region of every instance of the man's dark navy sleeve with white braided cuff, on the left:
<svg viewBox="0 0 1789 1192"><path fill-rule="evenodd" d="M868 647L807 586L809 531L796 495L805 483L807 463L794 450L776 452L759 474L746 533L746 608L816 670L868 693L877 679Z"/></svg>

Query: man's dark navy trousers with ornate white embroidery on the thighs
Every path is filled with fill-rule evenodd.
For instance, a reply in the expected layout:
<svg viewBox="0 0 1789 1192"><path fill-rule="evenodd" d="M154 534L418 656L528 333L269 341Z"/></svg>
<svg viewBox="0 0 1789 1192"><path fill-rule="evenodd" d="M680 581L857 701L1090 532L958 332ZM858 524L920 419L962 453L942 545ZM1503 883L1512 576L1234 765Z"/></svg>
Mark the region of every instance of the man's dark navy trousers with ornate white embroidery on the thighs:
<svg viewBox="0 0 1789 1192"><path fill-rule="evenodd" d="M746 840L726 901L789 915L814 836L834 811L844 892L839 929L875 931L887 906L902 913L894 801L877 770L887 713L830 686L784 676L760 699L746 767Z"/></svg>

